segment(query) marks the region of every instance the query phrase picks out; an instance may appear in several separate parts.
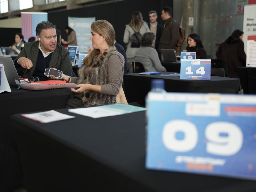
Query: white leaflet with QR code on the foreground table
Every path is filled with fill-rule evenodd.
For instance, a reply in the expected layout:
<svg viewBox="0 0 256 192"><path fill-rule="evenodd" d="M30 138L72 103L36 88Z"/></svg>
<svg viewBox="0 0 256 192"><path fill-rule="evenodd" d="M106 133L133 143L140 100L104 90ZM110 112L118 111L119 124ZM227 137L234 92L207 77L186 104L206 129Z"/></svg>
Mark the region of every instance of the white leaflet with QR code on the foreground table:
<svg viewBox="0 0 256 192"><path fill-rule="evenodd" d="M21 116L26 117L28 119L32 119L34 121L39 121L40 123L49 123L49 122L60 121L64 119L75 118L75 116L59 113L55 110L44 111L39 113L21 114Z"/></svg>

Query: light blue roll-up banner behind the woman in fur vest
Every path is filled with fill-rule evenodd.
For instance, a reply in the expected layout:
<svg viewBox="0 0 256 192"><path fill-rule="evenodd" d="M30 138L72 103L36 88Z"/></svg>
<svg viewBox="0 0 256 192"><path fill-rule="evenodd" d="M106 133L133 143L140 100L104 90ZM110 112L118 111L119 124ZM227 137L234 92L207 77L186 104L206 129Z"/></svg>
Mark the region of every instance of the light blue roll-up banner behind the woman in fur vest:
<svg viewBox="0 0 256 192"><path fill-rule="evenodd" d="M88 53L88 46L92 47L90 36L91 23L93 21L95 21L95 17L68 17L68 26L76 32L78 51L80 53Z"/></svg>

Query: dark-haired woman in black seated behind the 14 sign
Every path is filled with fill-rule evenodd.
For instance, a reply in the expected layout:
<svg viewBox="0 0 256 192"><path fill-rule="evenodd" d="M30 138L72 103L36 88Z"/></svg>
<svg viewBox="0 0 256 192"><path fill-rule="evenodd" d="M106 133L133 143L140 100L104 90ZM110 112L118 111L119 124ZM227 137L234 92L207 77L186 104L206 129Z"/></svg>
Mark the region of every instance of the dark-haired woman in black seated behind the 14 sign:
<svg viewBox="0 0 256 192"><path fill-rule="evenodd" d="M196 52L196 59L207 59L207 53L204 49L199 35L197 35L196 33L190 34L187 39L187 44L187 51Z"/></svg>

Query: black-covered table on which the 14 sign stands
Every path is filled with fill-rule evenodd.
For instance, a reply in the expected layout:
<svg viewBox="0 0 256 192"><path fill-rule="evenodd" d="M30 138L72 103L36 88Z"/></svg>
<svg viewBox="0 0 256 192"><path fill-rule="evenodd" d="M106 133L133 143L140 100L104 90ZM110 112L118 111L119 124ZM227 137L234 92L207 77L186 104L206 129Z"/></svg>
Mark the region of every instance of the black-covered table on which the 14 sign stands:
<svg viewBox="0 0 256 192"><path fill-rule="evenodd" d="M171 74L172 72L161 72ZM240 79L211 76L211 80L180 80L175 76L124 74L126 99L128 103L140 102L144 105L145 97L151 89L152 79L164 79L167 92L197 93L238 93Z"/></svg>

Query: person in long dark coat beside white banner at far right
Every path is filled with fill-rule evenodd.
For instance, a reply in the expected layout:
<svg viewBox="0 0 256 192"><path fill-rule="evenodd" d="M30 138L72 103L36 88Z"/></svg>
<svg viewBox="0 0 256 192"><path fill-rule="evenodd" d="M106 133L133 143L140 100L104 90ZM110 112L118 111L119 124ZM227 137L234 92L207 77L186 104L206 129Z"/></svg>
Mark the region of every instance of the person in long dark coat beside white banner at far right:
<svg viewBox="0 0 256 192"><path fill-rule="evenodd" d="M230 77L240 78L237 67L246 66L246 54L244 52L243 31L235 30L216 52L217 59L225 61Z"/></svg>

